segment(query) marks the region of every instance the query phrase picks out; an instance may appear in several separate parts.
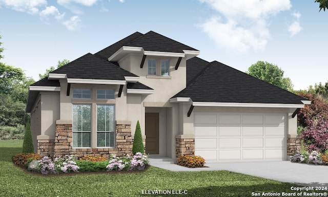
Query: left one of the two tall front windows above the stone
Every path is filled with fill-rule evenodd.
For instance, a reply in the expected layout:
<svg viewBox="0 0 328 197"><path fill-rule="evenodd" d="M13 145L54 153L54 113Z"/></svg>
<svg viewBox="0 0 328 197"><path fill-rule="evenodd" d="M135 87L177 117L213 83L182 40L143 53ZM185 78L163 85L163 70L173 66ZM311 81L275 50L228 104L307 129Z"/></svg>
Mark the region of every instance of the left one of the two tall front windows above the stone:
<svg viewBox="0 0 328 197"><path fill-rule="evenodd" d="M91 105L73 104L73 147L91 147Z"/></svg>

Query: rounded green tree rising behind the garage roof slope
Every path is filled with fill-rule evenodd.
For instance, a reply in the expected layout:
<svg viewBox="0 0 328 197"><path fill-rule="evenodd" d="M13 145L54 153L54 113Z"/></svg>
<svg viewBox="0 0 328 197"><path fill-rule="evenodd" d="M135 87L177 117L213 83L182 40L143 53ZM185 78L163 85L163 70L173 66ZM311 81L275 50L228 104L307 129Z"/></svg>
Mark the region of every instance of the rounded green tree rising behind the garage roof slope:
<svg viewBox="0 0 328 197"><path fill-rule="evenodd" d="M267 61L257 61L252 64L247 74L281 87L284 90L293 91L293 84L290 78L283 77L283 71L277 66Z"/></svg>

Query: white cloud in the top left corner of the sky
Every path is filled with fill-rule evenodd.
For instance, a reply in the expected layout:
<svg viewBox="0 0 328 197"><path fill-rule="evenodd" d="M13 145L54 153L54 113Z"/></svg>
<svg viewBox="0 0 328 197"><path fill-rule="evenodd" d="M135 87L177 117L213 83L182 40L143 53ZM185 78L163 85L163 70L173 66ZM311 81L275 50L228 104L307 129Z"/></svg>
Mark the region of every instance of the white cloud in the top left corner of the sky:
<svg viewBox="0 0 328 197"><path fill-rule="evenodd" d="M0 0L1 4L19 12L36 14L39 12L38 7L47 5L46 0Z"/></svg>

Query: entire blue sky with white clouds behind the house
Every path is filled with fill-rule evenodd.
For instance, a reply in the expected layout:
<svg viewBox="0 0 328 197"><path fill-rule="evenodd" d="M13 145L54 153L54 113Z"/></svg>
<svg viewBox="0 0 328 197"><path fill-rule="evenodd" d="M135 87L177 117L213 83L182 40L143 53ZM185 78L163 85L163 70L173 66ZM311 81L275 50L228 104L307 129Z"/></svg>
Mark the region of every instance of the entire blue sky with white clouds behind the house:
<svg viewBox="0 0 328 197"><path fill-rule="evenodd" d="M0 0L0 61L38 80L58 60L150 30L243 72L277 64L296 90L328 81L328 11L299 0Z"/></svg>

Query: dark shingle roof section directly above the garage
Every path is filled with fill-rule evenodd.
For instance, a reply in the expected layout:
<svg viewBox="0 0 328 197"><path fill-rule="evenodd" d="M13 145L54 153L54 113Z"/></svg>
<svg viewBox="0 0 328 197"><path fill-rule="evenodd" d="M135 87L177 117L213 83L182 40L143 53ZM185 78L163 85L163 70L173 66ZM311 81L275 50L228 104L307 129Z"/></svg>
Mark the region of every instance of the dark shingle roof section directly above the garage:
<svg viewBox="0 0 328 197"><path fill-rule="evenodd" d="M195 62L195 59L187 61L187 70L189 62ZM303 104L301 100L306 100L218 61L200 66L204 69L186 89L172 98L189 97L194 102L278 104Z"/></svg>

